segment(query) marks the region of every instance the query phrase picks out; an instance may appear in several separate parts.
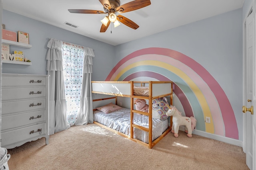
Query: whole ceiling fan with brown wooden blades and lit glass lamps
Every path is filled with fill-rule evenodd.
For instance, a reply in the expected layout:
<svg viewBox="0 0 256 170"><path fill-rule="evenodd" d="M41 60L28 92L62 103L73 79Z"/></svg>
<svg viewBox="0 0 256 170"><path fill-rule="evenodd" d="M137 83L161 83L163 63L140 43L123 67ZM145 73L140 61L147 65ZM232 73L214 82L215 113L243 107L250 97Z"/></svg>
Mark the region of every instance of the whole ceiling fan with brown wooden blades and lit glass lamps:
<svg viewBox="0 0 256 170"><path fill-rule="evenodd" d="M101 20L102 25L100 28L100 32L105 32L110 25L110 22L114 23L114 27L120 25L118 21L131 27L132 29L137 29L139 25L137 25L134 21L129 20L128 18L118 15L116 13L125 13L134 10L138 10L140 8L144 8L151 4L150 0L134 0L132 2L128 2L120 6L120 0L99 0L100 3L104 7L104 11L99 10L68 10L70 13L79 13L79 14L108 14L103 20Z"/></svg>

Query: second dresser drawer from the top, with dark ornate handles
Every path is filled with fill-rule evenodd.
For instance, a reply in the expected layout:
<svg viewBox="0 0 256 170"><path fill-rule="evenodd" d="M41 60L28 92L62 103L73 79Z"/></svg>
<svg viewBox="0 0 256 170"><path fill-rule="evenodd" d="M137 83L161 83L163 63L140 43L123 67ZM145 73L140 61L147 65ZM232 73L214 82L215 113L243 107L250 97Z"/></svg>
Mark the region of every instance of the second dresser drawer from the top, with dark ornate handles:
<svg viewBox="0 0 256 170"><path fill-rule="evenodd" d="M46 97L46 87L2 88L2 100Z"/></svg>

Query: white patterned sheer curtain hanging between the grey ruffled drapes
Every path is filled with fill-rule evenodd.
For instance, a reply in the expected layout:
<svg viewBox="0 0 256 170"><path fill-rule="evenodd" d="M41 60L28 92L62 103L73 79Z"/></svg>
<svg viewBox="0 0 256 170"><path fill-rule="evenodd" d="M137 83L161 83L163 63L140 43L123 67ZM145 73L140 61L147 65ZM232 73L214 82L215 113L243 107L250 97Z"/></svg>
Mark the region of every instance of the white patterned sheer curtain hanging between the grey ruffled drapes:
<svg viewBox="0 0 256 170"><path fill-rule="evenodd" d="M67 102L67 120L74 125L80 109L84 47L63 42L62 65Z"/></svg>

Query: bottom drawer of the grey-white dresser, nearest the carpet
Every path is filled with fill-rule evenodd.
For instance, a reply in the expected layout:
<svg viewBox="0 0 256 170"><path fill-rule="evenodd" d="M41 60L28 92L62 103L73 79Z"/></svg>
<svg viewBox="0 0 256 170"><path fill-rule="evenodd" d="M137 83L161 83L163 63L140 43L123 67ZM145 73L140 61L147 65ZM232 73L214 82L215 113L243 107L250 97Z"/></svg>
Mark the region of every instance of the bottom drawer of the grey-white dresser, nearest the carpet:
<svg viewBox="0 0 256 170"><path fill-rule="evenodd" d="M38 129L41 131L37 132ZM33 133L34 131L34 133ZM20 141L28 140L46 134L46 123L40 123L12 131L2 132L2 146L10 145ZM48 134L47 134L48 135Z"/></svg>

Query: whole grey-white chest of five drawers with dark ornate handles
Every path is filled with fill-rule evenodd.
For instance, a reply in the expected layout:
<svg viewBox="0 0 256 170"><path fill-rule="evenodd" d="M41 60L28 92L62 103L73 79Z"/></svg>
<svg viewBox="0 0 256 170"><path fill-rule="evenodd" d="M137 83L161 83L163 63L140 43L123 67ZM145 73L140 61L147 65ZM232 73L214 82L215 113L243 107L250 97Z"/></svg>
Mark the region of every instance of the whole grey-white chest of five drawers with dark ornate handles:
<svg viewBox="0 0 256 170"><path fill-rule="evenodd" d="M2 74L2 146L11 149L42 137L49 143L49 76Z"/></svg>

